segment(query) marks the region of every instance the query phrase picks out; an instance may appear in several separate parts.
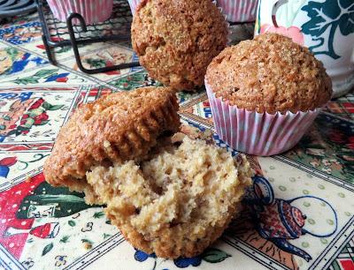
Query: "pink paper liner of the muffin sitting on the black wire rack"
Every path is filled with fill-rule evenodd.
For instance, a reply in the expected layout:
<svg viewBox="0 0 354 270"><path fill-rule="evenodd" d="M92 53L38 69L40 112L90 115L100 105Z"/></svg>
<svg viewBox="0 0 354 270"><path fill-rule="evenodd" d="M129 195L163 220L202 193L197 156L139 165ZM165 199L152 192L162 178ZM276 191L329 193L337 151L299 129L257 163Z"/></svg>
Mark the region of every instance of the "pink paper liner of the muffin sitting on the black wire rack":
<svg viewBox="0 0 354 270"><path fill-rule="evenodd" d="M86 24L109 19L112 14L113 0L47 0L56 19L65 21L73 12L81 14ZM74 24L79 21L74 19Z"/></svg>

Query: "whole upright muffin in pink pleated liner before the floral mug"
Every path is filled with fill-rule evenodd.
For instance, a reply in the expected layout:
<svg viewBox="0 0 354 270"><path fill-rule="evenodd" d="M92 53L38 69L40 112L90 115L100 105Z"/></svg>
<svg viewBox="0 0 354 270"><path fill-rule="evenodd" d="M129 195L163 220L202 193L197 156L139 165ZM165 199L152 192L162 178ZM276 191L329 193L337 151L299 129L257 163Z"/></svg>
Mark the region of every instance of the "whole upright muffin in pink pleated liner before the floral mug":
<svg viewBox="0 0 354 270"><path fill-rule="evenodd" d="M280 34L262 34L224 49L205 86L219 137L247 154L295 146L332 95L323 64Z"/></svg>

